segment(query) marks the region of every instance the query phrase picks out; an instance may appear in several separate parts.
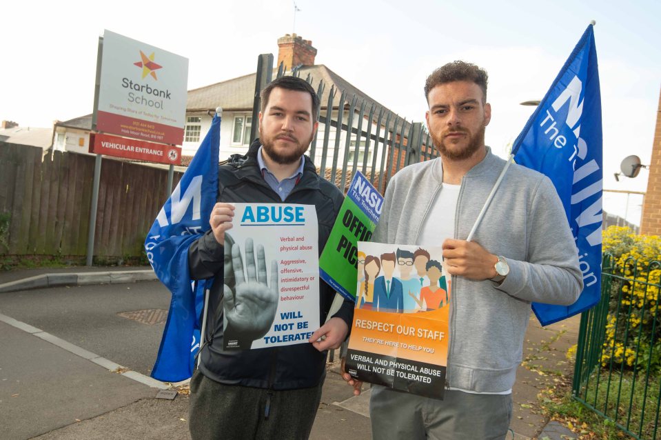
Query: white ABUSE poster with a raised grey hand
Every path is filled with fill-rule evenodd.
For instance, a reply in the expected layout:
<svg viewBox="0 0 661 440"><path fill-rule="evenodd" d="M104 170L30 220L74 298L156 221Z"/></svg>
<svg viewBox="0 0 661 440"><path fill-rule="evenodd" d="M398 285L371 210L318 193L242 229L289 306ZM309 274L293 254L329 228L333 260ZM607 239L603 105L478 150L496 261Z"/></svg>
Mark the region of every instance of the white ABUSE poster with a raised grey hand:
<svg viewBox="0 0 661 440"><path fill-rule="evenodd" d="M225 350L307 343L319 328L314 206L233 204L225 232Z"/></svg>

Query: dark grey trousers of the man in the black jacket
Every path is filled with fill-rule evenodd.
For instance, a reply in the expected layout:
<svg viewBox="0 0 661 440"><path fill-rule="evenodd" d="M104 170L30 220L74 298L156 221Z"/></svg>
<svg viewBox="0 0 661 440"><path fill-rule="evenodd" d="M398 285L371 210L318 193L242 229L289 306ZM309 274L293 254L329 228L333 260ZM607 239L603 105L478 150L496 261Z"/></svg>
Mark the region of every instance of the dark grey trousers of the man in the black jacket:
<svg viewBox="0 0 661 440"><path fill-rule="evenodd" d="M321 383L300 390L225 385L199 370L190 379L188 428L192 440L309 437L321 401Z"/></svg>

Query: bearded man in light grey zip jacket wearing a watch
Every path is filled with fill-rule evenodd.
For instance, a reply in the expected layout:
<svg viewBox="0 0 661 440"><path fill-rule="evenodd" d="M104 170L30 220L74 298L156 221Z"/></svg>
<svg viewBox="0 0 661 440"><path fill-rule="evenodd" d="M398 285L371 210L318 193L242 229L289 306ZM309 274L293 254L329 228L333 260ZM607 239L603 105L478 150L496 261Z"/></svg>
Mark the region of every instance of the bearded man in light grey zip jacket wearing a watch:
<svg viewBox="0 0 661 440"><path fill-rule="evenodd" d="M451 275L447 389L440 400L373 386L372 434L504 439L531 302L569 305L578 299L576 246L551 181L516 164L467 241L505 167L485 146L487 72L448 63L429 75L425 97L440 158L395 174L372 240L443 246ZM358 394L360 383L344 377Z"/></svg>

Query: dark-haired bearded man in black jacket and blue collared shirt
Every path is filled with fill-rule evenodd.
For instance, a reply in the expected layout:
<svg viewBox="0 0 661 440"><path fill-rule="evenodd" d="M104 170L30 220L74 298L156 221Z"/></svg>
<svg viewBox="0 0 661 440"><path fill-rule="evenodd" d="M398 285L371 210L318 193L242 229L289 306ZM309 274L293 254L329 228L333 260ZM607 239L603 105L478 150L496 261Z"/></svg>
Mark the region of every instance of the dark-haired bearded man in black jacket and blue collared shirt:
<svg viewBox="0 0 661 440"><path fill-rule="evenodd" d="M234 272L243 276L242 270L236 270L242 264L238 243L225 237L232 228L232 202L313 205L320 252L337 217L342 193L319 177L304 155L318 126L318 105L319 98L303 79L276 79L261 92L259 139L245 156L234 155L218 168L218 203L209 219L211 230L188 251L191 276L214 279L201 362L190 382L194 440L307 439L321 400L326 350L338 348L347 336L353 304L345 301L326 320L335 292L322 282L319 317L325 324L309 341L258 350L223 350L223 337L227 337L223 321L232 328L234 317L252 317L241 322L241 332L263 335L272 321L266 316L268 306L279 297L274 288L277 278L267 283L263 248L254 249L250 239L245 246L250 282L223 282L223 259L228 255ZM223 244L232 247L232 252L225 252ZM248 284L250 288L242 288Z"/></svg>

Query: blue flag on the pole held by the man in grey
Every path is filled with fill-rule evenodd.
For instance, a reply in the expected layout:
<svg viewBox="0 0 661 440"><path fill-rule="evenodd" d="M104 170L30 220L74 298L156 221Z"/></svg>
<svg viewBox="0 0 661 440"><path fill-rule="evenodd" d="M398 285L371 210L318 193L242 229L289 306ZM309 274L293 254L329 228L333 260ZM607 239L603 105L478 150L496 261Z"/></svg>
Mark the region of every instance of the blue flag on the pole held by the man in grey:
<svg viewBox="0 0 661 440"><path fill-rule="evenodd" d="M560 195L578 247L584 288L571 306L533 303L542 326L601 297L602 126L593 26L588 26L512 147L514 161L546 174Z"/></svg>

